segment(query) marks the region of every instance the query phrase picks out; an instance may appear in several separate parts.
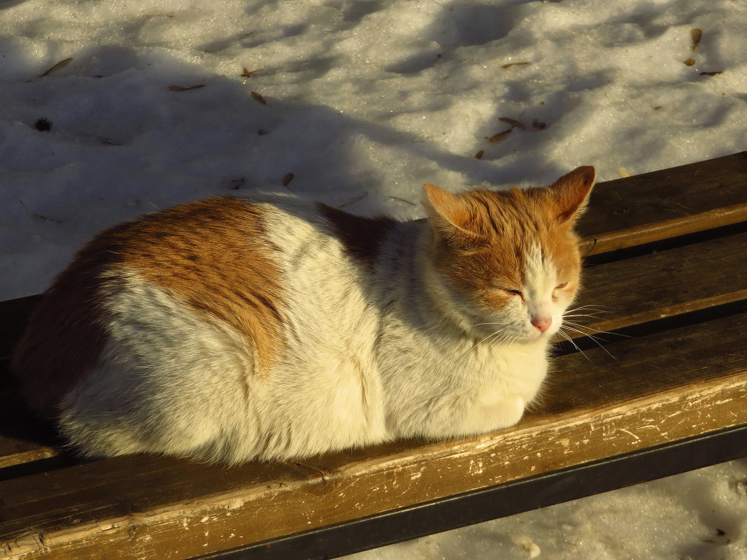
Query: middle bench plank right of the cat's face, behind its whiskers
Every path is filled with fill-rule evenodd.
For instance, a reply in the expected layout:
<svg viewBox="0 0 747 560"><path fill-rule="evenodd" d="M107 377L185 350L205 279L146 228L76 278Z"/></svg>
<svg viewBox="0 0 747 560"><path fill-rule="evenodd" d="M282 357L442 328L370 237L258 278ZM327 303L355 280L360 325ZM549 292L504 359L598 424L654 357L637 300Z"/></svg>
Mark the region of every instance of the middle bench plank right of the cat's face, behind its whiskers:
<svg viewBox="0 0 747 560"><path fill-rule="evenodd" d="M580 311L568 313L579 323L568 327L582 332L567 334L594 335L747 299L745 255L742 233L588 268L573 306Z"/></svg>

